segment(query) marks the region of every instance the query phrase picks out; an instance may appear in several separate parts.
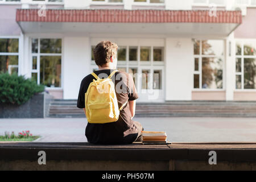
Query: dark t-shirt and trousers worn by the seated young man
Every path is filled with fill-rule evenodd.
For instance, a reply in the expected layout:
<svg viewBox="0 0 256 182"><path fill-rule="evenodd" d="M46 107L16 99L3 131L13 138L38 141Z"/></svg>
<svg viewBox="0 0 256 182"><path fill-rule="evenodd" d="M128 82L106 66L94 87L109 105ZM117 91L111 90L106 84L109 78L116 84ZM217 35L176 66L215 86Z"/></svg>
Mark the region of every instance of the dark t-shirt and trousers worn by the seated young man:
<svg viewBox="0 0 256 182"><path fill-rule="evenodd" d="M102 69L94 71L100 78L107 78L114 69ZM85 108L85 93L90 82L96 79L93 75L87 75L82 79L77 107ZM133 77L128 73L118 71L112 76L115 84L115 93L118 106L121 107L127 100L133 101L138 98L138 93L134 85ZM85 136L90 143L94 144L129 144L137 139L137 126L131 119L129 104L120 110L118 121L111 123L87 123Z"/></svg>

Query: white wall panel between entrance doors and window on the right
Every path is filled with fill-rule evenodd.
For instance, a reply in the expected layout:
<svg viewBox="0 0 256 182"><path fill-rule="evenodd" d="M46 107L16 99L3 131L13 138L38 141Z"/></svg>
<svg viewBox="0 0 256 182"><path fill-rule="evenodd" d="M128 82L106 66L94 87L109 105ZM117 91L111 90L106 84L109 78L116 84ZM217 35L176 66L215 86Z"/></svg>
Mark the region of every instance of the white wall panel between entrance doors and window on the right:
<svg viewBox="0 0 256 182"><path fill-rule="evenodd" d="M191 100L192 87L191 38L166 38L166 100Z"/></svg>

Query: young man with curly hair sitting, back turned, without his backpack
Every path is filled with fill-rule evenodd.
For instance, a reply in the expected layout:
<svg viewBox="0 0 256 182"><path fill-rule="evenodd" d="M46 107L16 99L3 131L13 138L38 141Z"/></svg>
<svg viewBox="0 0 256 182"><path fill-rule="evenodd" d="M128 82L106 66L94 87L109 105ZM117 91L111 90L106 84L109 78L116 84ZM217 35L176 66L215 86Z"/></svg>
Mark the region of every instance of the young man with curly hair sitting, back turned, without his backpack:
<svg viewBox="0 0 256 182"><path fill-rule="evenodd" d="M116 49L116 44L111 42L101 42L94 49L95 61L99 66L99 70L94 71L94 73L98 77L107 78L114 71L117 64L116 51L114 51ZM108 55L110 56L108 57ZM83 108L84 111L85 93L93 79L95 80L94 76L90 74L81 81L77 107ZM139 122L132 120L135 114L135 100L138 98L133 77L128 73L118 71L112 76L112 81L115 84L118 107L128 102L120 110L117 121L109 123L88 123L85 135L90 143L129 144L135 140L141 140L142 126Z"/></svg>

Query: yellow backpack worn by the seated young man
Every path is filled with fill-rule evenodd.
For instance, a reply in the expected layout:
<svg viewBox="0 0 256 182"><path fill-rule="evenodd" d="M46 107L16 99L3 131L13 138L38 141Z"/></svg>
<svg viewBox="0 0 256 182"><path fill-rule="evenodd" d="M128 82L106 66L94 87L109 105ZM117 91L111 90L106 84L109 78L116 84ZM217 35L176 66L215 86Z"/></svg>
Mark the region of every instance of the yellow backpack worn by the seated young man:
<svg viewBox="0 0 256 182"><path fill-rule="evenodd" d="M89 123L115 122L118 120L119 110L127 104L128 101L118 108L115 84L111 79L117 71L114 70L108 78L99 78L91 73L96 80L93 79L85 93L86 117Z"/></svg>

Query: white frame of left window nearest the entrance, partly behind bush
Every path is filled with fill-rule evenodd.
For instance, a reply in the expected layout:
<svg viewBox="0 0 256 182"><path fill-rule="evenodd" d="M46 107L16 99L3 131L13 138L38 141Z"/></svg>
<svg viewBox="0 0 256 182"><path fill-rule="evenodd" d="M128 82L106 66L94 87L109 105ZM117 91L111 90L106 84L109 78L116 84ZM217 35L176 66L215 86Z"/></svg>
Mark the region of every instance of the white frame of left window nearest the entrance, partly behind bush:
<svg viewBox="0 0 256 182"><path fill-rule="evenodd" d="M38 39L38 52L37 53L32 53L32 39ZM40 39L61 39L61 53L40 53ZM64 64L63 64L63 57L64 57L64 38L63 36L30 36L30 44L29 44L29 51L30 51L30 78L32 77L32 73L38 73L38 80L37 80L37 84L40 84L40 56L61 56L61 81L60 84L61 86L59 87L49 87L46 86L47 90L63 90L63 71L64 71ZM33 66L33 57L36 56L36 69L32 69Z"/></svg>

